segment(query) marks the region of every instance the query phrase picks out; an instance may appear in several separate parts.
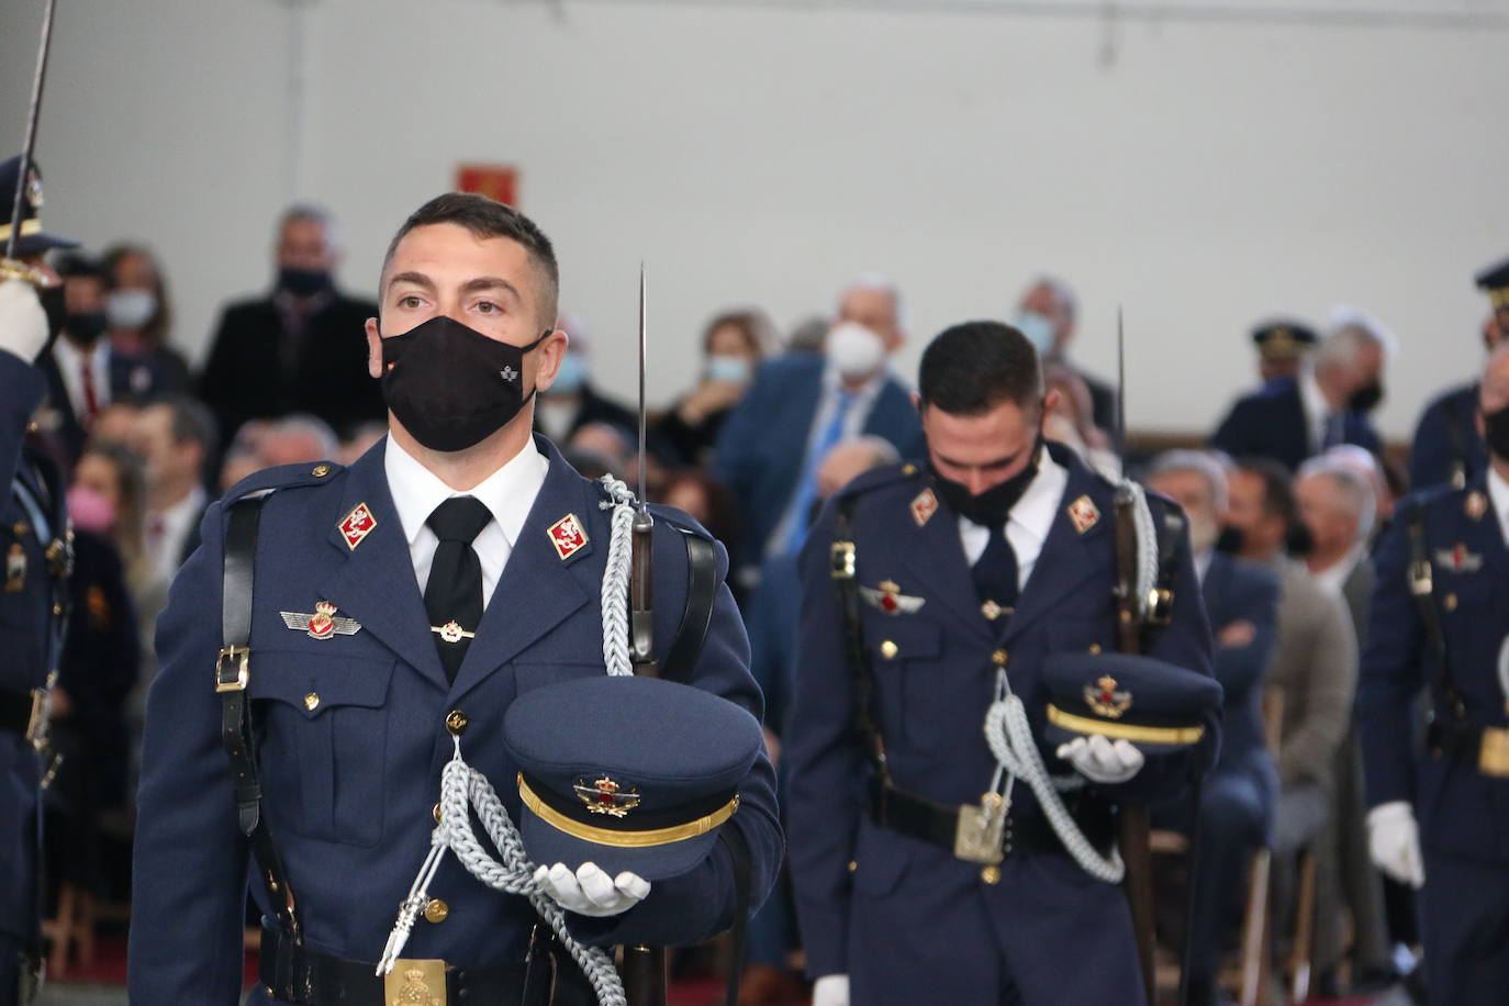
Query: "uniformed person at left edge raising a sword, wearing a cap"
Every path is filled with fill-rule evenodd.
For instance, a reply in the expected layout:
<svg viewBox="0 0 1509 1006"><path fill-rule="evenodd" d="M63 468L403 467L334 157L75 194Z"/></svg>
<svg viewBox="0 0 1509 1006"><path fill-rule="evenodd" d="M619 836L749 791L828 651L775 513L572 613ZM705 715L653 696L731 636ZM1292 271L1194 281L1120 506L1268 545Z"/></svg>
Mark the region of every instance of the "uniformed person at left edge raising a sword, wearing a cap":
<svg viewBox="0 0 1509 1006"><path fill-rule="evenodd" d="M0 164L0 192L14 193L21 158ZM21 219L3 201L0 247L17 229L15 261L51 284L42 302L30 282L0 282L0 1006L29 1001L41 968L38 941L39 784L47 769L47 694L56 679L66 596L68 519L57 468L26 443L47 380L36 360L62 323L62 285L42 259L74 241L42 229L41 173L27 172Z"/></svg>

